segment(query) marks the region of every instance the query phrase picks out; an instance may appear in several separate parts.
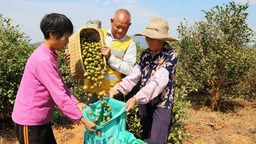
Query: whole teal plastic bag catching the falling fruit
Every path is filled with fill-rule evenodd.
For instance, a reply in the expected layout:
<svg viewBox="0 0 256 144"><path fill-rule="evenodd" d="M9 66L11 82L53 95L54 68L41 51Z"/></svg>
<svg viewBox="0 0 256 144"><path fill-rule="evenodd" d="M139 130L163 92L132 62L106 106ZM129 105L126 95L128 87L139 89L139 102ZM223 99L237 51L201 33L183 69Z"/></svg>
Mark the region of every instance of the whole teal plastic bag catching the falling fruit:
<svg viewBox="0 0 256 144"><path fill-rule="evenodd" d="M125 110L125 103L113 98L103 98L85 108L83 116L91 121L97 117L97 121L96 132L84 131L84 144L146 144L126 130Z"/></svg>

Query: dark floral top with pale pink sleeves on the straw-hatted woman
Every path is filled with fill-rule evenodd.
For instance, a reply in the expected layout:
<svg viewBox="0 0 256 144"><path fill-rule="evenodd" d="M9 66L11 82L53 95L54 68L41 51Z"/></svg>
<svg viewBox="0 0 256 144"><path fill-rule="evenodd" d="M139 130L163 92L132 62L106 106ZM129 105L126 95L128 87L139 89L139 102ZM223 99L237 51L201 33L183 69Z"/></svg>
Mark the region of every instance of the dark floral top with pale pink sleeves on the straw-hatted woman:
<svg viewBox="0 0 256 144"><path fill-rule="evenodd" d="M134 95L140 104L151 103L161 108L172 108L177 52L167 43L154 58L146 49L131 74L122 79L113 91L127 94L140 81L140 90Z"/></svg>

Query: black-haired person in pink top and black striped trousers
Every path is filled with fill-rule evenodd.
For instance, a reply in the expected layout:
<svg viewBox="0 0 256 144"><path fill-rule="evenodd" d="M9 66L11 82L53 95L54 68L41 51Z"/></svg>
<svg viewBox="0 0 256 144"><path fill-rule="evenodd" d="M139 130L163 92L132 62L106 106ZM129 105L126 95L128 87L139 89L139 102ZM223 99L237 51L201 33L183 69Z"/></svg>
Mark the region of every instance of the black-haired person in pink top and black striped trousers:
<svg viewBox="0 0 256 144"><path fill-rule="evenodd" d="M56 144L50 123L55 106L89 131L96 126L83 117L86 105L70 93L58 68L56 51L67 45L72 22L63 14L50 13L43 17L40 28L44 42L27 60L12 113L20 144Z"/></svg>

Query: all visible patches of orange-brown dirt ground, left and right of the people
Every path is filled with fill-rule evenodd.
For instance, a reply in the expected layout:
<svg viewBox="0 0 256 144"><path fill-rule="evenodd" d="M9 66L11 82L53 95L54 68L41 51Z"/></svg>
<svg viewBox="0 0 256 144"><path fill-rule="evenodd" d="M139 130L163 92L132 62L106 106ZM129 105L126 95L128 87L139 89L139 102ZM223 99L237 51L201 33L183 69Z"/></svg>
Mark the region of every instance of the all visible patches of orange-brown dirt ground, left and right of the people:
<svg viewBox="0 0 256 144"><path fill-rule="evenodd" d="M225 104L224 104L225 105ZM234 109L212 112L208 107L190 108L188 119L183 121L189 137L186 144L256 144L256 101L239 100L232 104ZM5 129L10 131L9 129ZM0 144L17 144L0 131ZM84 127L72 124L66 128L54 127L58 144L82 144Z"/></svg>

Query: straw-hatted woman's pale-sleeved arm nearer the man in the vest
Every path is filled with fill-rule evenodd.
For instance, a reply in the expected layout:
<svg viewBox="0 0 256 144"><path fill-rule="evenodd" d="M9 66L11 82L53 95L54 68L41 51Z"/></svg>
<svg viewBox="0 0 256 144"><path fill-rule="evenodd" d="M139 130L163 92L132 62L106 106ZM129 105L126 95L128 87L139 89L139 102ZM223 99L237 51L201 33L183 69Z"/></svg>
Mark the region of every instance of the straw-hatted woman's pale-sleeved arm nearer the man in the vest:
<svg viewBox="0 0 256 144"><path fill-rule="evenodd" d="M113 87L113 89L110 91L110 97L113 97L114 95L119 93L127 94L139 82L140 77L140 66L135 65L134 68L132 69L131 74L124 77L121 82L117 83Z"/></svg>

